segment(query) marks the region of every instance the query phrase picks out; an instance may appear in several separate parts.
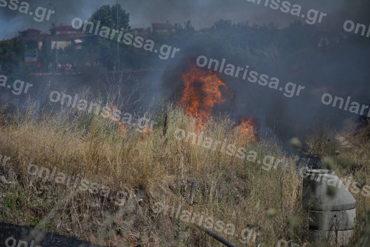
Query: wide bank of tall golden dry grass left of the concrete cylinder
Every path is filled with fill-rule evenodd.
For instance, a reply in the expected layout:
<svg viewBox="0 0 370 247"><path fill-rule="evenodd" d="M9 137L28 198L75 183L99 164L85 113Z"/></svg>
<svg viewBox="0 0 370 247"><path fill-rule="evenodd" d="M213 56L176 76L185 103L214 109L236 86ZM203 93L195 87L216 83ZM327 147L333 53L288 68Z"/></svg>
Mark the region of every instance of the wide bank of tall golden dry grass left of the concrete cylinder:
<svg viewBox="0 0 370 247"><path fill-rule="evenodd" d="M231 134L233 122L227 117L211 119L204 130L204 135L214 140L226 138L236 147L255 151L257 160L262 161L265 155L285 159L283 165L265 171L262 164L242 161L219 148L207 149L176 139L178 128L196 132L195 119L171 104L155 118L158 125L152 132L142 134L129 127L126 138L120 136L114 122L94 114L62 112L39 117L31 108L2 121L0 150L11 158L0 171L14 183L0 184L0 196L5 198L0 202L0 221L112 246L222 246L190 223L155 214L153 205L161 202L175 208L181 205L181 210L211 217L214 222L231 223L239 235L246 227L261 233L248 246L274 246L280 239L301 245L306 241L297 160L286 156L274 139L243 143L237 134ZM322 147L318 151L324 153ZM354 160L368 167L366 155L354 154ZM110 198L28 174L30 162L50 170L57 167L69 175L82 174L112 191L124 190L135 196L118 207ZM355 177L368 174L364 167ZM197 183L196 204L189 206L192 181ZM354 239L360 237L361 217L369 204L361 195L356 199L360 220ZM266 215L269 209L275 216ZM240 237L220 234L242 246Z"/></svg>

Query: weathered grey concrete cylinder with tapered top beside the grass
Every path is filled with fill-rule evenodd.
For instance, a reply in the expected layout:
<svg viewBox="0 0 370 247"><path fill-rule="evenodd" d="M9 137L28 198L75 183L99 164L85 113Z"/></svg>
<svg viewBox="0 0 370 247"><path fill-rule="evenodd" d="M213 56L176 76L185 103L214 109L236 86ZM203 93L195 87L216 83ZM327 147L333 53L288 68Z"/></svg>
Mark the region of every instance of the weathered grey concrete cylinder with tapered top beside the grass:
<svg viewBox="0 0 370 247"><path fill-rule="evenodd" d="M347 246L356 223L356 200L335 172L307 170L302 204L308 209L310 241Z"/></svg>

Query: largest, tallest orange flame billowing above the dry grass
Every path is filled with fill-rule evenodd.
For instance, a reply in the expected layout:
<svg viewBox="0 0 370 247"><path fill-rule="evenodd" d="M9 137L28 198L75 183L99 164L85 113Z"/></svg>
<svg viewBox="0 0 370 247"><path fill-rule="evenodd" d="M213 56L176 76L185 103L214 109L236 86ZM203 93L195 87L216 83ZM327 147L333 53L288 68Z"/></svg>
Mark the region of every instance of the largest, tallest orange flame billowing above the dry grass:
<svg viewBox="0 0 370 247"><path fill-rule="evenodd" d="M188 114L197 118L196 130L205 128L213 107L225 102L219 87L224 87L227 94L233 97L229 87L213 70L199 68L195 64L181 75L184 89L178 105L188 109Z"/></svg>

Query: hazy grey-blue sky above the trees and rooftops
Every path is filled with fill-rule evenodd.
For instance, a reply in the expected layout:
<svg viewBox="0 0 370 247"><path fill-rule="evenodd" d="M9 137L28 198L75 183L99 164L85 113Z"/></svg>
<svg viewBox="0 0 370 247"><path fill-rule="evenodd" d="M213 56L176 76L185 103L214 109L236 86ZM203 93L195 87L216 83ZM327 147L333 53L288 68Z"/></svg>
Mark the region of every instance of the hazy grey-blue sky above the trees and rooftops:
<svg viewBox="0 0 370 247"><path fill-rule="evenodd" d="M9 3L9 1L18 0L2 1ZM22 1L19 1L21 4ZM266 0L262 0L260 5L247 0L118 0L118 3L130 13L130 25L133 28L149 27L151 23L155 22L164 23L169 21L174 24L191 20L193 27L200 29L211 27L219 19L232 20L234 23L248 21L250 24L274 22L279 23L280 27L284 27L291 22L301 20L289 13L264 7L264 1ZM295 0L290 2L300 4L303 11L314 8L327 12L328 20L333 21L338 19L338 13L343 8L343 1ZM353 1L356 2L357 0ZM30 11L39 6L53 9L49 5L49 3L52 3L57 8L57 24L70 25L74 17L79 17L85 21L99 7L104 4L113 5L116 0L106 0L104 2L101 0L28 0L26 2L30 5ZM18 31L27 28L36 28L48 33L48 29L54 21L52 15L49 21L36 22L30 15L20 13L17 10L10 10L8 4L6 7L0 7L0 40L12 38L18 34ZM327 25L328 23L330 22L326 22Z"/></svg>

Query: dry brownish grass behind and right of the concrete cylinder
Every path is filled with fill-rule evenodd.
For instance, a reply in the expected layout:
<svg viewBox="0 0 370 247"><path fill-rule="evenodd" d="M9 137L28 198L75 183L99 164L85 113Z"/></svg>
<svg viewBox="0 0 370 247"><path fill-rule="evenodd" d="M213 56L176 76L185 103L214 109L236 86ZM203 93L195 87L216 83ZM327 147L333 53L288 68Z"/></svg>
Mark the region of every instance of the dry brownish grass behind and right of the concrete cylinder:
<svg viewBox="0 0 370 247"><path fill-rule="evenodd" d="M312 154L319 157L334 158L333 170L343 181L349 179L349 191L357 201L356 225L351 243L353 246L368 246L370 230L370 122L346 119L343 128L336 133L329 128L323 128L307 138ZM361 186L356 186L359 183ZM364 189L365 186L369 186ZM356 187L360 187L357 188ZM366 190L367 189L367 190ZM359 192L357 192L359 191Z"/></svg>

